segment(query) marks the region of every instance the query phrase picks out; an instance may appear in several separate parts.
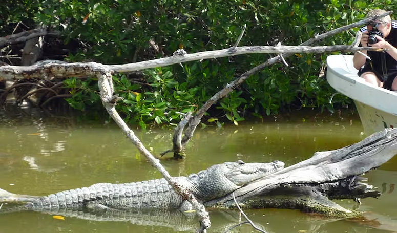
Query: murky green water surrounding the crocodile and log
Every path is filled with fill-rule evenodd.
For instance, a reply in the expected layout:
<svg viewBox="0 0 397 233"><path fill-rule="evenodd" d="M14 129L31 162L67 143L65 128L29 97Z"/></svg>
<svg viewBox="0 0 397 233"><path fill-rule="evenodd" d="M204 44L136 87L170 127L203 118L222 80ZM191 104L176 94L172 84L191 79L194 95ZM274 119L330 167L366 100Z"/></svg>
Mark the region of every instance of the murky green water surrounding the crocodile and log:
<svg viewBox="0 0 397 233"><path fill-rule="evenodd" d="M182 162L167 159L161 162L173 176L196 173L215 163L237 159L245 162L277 159L288 166L311 157L316 151L338 149L364 138L358 116L340 119L314 115L306 113L288 121L269 119L238 127L198 130L187 150L189 158ZM171 146L170 130L135 132L154 155ZM98 182L161 177L111 123L80 124L67 117L39 119L8 115L0 118L0 143L0 187L13 193L48 195ZM394 158L366 175L368 182L383 193L379 199L362 200L360 209L369 211L368 216L374 221L320 218L288 209L246 213L268 233L397 230L396 165ZM349 208L355 205L350 200L339 203ZM234 211L212 210L210 215L209 232L224 232L239 221ZM116 217L67 216L65 220L57 220L50 214L26 211L0 215L0 232L173 232L194 231L197 225L195 219L186 220L172 213L124 213ZM235 231L254 230L242 225Z"/></svg>

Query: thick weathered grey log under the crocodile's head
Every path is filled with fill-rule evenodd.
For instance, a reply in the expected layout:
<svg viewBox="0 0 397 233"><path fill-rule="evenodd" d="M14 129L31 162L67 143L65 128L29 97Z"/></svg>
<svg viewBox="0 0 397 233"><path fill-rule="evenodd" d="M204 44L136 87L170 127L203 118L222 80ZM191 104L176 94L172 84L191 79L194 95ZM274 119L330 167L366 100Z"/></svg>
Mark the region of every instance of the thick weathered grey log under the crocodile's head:
<svg viewBox="0 0 397 233"><path fill-rule="evenodd" d="M360 177L397 154L397 129L385 129L341 149L316 152L310 159L256 180L234 194L245 208L291 208L330 217L357 217L330 201L381 195ZM204 203L205 206L233 207L232 194Z"/></svg>

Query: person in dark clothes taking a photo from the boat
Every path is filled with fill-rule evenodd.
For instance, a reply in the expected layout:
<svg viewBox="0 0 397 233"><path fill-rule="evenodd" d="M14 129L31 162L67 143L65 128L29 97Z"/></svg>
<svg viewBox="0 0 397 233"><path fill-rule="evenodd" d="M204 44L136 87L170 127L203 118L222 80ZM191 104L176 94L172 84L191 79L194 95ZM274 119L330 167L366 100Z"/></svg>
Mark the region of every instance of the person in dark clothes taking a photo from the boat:
<svg viewBox="0 0 397 233"><path fill-rule="evenodd" d="M381 9L371 10L367 17L385 12ZM392 21L387 15L360 28L360 31L363 33L360 40L361 46L387 50L385 52L361 51L371 59L354 53L353 65L359 70L358 75L375 86L397 91L397 78L395 78L397 76L397 22Z"/></svg>

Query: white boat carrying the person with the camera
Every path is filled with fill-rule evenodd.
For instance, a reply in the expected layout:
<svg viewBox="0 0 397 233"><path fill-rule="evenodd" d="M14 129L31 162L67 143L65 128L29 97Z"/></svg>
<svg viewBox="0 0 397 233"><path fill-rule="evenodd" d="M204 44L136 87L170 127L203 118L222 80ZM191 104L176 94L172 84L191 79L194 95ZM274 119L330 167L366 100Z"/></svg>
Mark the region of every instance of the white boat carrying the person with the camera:
<svg viewBox="0 0 397 233"><path fill-rule="evenodd" d="M327 81L332 88L354 100L366 135L397 126L397 92L375 87L357 72L353 55L327 57Z"/></svg>

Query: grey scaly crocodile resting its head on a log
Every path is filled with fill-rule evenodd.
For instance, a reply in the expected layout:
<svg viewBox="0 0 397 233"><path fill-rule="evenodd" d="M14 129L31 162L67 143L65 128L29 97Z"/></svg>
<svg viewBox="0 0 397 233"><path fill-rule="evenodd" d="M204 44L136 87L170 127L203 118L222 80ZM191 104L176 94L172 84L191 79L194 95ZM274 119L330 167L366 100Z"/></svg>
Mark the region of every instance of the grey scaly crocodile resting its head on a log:
<svg viewBox="0 0 397 233"><path fill-rule="evenodd" d="M284 168L281 161L270 163L224 162L188 177L175 177L204 203L232 193L243 185ZM18 210L57 211L113 209L192 209L189 202L174 192L165 179L133 183L97 183L65 190L49 196L18 195L0 189L0 203L24 202ZM15 207L14 207L15 208ZM1 210L0 210L1 211Z"/></svg>

